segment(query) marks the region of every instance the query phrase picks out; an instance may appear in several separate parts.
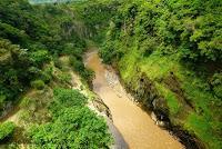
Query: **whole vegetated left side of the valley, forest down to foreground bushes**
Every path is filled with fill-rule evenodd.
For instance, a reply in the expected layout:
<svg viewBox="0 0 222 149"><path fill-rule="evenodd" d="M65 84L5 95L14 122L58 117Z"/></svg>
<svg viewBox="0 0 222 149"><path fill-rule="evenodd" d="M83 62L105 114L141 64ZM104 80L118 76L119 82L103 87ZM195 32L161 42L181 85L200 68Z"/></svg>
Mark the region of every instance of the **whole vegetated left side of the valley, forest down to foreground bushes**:
<svg viewBox="0 0 222 149"><path fill-rule="evenodd" d="M19 122L0 125L0 148L109 148L103 118L85 106L88 97L69 89L70 70L85 82L93 76L82 62L87 34L65 3L0 1L0 117L22 109ZM60 60L65 56L68 69Z"/></svg>

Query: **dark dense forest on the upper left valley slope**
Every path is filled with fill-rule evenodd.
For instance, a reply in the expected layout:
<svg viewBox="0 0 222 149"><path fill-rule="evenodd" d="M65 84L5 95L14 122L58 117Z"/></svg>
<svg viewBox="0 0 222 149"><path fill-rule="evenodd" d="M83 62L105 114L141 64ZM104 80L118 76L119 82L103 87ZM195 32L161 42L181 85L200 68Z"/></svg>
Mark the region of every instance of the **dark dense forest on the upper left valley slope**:
<svg viewBox="0 0 222 149"><path fill-rule="evenodd" d="M42 70L44 63L68 53L81 61L85 42L75 32L78 24L65 8L32 7L27 1L13 0L1 1L0 7L2 110L31 85L50 81L51 71Z"/></svg>

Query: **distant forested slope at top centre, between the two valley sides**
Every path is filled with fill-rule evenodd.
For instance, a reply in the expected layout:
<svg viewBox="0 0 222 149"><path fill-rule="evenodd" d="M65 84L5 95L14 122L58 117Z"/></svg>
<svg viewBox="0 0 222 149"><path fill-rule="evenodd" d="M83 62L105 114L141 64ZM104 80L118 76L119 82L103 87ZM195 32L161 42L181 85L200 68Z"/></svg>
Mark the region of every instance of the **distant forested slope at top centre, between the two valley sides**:
<svg viewBox="0 0 222 149"><path fill-rule="evenodd" d="M85 36L95 42L102 42L109 21L119 4L118 0L87 0L75 6L79 17L88 28Z"/></svg>

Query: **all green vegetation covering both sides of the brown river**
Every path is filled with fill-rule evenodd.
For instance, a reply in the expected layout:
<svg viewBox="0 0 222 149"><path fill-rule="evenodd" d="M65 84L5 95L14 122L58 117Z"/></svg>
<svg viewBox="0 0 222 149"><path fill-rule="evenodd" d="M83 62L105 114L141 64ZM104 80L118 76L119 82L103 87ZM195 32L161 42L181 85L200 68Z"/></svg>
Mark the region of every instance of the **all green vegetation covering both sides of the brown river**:
<svg viewBox="0 0 222 149"><path fill-rule="evenodd" d="M90 97L70 89L70 70L85 88L94 77L82 59L89 40L188 148L222 147L221 0L31 2L47 3L0 0L0 118L22 109L19 126L0 123L0 147L111 147Z"/></svg>

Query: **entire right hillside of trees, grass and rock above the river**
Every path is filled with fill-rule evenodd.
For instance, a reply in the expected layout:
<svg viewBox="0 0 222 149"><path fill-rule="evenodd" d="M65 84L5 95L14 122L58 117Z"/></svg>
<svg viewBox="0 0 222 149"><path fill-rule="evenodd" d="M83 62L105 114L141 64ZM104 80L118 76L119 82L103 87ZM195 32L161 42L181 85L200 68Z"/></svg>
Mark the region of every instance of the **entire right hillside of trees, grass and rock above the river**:
<svg viewBox="0 0 222 149"><path fill-rule="evenodd" d="M125 1L112 17L100 51L145 108L218 149L221 12L220 0Z"/></svg>

